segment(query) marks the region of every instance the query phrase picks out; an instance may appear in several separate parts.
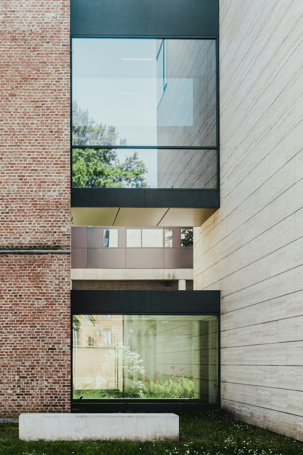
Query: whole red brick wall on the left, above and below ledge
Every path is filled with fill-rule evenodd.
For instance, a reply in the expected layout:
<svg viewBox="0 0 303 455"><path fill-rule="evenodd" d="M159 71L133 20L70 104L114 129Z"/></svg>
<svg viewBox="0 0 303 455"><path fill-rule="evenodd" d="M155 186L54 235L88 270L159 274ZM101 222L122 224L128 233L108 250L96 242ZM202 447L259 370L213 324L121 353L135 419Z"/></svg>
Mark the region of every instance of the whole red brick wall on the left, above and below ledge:
<svg viewBox="0 0 303 455"><path fill-rule="evenodd" d="M1 3L0 249L70 248L69 21ZM0 326L0 417L69 411L69 254L0 254Z"/></svg>

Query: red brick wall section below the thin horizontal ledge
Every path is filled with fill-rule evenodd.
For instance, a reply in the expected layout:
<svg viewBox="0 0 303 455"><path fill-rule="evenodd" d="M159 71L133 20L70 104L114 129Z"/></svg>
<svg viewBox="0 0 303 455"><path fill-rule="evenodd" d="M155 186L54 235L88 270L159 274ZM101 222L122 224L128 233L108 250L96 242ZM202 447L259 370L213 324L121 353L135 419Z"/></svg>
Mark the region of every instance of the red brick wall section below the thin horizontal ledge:
<svg viewBox="0 0 303 455"><path fill-rule="evenodd" d="M0 417L70 411L70 255L0 255Z"/></svg>

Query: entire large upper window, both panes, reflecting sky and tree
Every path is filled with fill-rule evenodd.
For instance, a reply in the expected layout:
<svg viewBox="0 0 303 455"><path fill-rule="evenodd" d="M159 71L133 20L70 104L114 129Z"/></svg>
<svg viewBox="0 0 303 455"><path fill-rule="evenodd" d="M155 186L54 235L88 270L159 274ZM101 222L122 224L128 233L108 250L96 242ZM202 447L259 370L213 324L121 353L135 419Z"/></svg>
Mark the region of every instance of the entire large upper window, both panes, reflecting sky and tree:
<svg viewBox="0 0 303 455"><path fill-rule="evenodd" d="M72 46L73 187L216 188L215 40Z"/></svg>

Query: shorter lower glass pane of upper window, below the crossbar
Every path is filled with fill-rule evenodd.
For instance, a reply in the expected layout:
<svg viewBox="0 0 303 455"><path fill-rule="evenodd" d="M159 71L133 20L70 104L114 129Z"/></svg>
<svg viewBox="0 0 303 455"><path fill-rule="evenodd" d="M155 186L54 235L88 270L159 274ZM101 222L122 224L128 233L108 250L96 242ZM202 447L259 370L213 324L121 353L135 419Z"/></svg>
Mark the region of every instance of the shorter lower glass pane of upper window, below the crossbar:
<svg viewBox="0 0 303 455"><path fill-rule="evenodd" d="M74 188L216 188L216 150L73 149Z"/></svg>

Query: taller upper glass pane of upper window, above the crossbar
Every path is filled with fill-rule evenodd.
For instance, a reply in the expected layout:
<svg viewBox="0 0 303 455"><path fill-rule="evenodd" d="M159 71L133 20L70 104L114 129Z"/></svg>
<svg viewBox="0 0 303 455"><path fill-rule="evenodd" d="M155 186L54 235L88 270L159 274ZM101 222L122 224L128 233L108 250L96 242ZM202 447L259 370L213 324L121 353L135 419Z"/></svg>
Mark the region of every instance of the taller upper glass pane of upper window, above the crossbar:
<svg viewBox="0 0 303 455"><path fill-rule="evenodd" d="M215 40L74 38L73 145L216 145Z"/></svg>

